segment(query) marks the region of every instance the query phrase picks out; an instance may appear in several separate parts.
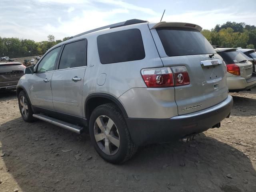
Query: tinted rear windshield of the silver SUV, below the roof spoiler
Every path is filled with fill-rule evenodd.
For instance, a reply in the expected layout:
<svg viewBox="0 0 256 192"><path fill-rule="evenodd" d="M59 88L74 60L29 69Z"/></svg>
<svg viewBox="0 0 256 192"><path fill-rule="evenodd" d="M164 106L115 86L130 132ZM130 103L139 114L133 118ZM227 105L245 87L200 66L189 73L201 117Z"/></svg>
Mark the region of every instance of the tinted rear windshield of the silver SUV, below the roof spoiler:
<svg viewBox="0 0 256 192"><path fill-rule="evenodd" d="M197 30L164 27L156 31L168 56L216 54L208 40Z"/></svg>

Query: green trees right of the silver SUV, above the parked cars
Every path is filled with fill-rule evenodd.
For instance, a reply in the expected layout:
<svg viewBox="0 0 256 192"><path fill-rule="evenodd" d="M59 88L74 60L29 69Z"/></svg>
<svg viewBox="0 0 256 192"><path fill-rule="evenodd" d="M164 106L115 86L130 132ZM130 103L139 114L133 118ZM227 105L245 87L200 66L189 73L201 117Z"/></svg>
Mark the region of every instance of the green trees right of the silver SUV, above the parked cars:
<svg viewBox="0 0 256 192"><path fill-rule="evenodd" d="M212 45L227 48L256 48L256 26L245 23L226 22L211 30L202 30L202 34Z"/></svg>

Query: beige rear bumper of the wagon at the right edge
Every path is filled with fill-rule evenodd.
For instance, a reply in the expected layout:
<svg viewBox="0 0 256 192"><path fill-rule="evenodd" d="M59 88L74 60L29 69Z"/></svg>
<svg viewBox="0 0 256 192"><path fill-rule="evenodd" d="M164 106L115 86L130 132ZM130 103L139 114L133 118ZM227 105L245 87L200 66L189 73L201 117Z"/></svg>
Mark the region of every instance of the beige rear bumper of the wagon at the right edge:
<svg viewBox="0 0 256 192"><path fill-rule="evenodd" d="M256 85L256 76L248 80L242 77L227 77L227 85L231 92L248 90Z"/></svg>

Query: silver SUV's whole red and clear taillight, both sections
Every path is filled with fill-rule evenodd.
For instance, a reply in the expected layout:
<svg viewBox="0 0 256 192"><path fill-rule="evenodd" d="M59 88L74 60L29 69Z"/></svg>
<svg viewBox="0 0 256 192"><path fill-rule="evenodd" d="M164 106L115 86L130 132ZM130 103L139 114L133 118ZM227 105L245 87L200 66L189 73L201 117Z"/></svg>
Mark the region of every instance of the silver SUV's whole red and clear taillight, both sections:
<svg viewBox="0 0 256 192"><path fill-rule="evenodd" d="M148 68L141 70L142 78L147 87L173 87L190 84L185 66Z"/></svg>

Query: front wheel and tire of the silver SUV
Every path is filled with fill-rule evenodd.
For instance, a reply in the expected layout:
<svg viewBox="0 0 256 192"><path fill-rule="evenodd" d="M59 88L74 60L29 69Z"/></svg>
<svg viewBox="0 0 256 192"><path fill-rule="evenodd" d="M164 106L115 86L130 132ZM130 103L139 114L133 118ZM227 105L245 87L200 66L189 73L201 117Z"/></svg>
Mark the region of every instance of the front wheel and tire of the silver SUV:
<svg viewBox="0 0 256 192"><path fill-rule="evenodd" d="M33 117L33 111L32 111L30 102L24 91L21 91L19 93L18 103L20 108L20 114L24 121L34 122L37 120L36 118Z"/></svg>

